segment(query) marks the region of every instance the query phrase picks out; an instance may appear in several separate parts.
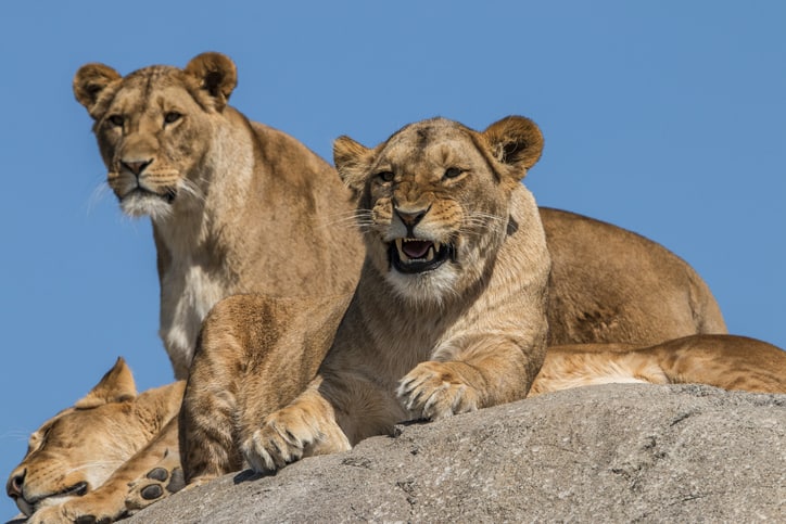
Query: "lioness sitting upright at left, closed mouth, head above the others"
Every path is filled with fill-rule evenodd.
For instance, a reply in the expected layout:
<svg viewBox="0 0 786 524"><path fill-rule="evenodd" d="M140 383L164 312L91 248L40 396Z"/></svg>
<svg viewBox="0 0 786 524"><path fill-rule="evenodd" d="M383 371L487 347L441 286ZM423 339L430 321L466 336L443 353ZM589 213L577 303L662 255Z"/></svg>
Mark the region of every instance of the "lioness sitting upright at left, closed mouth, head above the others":
<svg viewBox="0 0 786 524"><path fill-rule="evenodd" d="M218 53L126 77L88 64L74 78L121 207L153 221L161 336L178 379L220 298L351 292L363 258L333 169L227 105L236 84Z"/></svg>

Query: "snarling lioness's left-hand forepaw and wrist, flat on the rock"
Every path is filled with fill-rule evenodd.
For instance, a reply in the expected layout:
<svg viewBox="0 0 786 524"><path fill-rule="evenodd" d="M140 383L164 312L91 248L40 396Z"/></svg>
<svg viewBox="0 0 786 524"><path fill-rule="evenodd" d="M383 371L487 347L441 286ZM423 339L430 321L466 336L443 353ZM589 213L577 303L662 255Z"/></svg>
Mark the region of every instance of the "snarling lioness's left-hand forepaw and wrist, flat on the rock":
<svg viewBox="0 0 786 524"><path fill-rule="evenodd" d="M243 443L243 456L255 472L276 471L303 457L352 448L335 421L333 407L318 392L320 382L315 379L292 404L267 417Z"/></svg>

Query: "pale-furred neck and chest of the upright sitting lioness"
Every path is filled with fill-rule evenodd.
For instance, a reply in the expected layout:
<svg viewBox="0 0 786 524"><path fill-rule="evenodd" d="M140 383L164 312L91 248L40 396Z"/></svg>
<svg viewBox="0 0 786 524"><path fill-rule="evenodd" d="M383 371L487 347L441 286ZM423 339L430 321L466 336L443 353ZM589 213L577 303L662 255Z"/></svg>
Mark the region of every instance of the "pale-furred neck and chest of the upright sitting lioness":
<svg viewBox="0 0 786 524"><path fill-rule="evenodd" d="M169 216L153 220L161 284L160 335L177 379L185 379L202 320L213 306L236 293L234 265L226 264L238 248L227 231L244 207L254 176L252 131L245 118L227 107L231 125L218 120L199 172L190 178L199 194L174 204Z"/></svg>

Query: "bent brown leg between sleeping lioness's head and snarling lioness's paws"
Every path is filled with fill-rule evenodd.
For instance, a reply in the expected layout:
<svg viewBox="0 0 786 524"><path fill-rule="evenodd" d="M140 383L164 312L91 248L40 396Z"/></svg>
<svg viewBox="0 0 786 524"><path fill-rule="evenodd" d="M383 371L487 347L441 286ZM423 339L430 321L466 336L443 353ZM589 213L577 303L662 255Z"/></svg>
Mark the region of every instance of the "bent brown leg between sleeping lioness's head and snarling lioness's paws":
<svg viewBox="0 0 786 524"><path fill-rule="evenodd" d="M308 385L350 297L236 295L213 308L180 411L187 483L242 468L240 444Z"/></svg>

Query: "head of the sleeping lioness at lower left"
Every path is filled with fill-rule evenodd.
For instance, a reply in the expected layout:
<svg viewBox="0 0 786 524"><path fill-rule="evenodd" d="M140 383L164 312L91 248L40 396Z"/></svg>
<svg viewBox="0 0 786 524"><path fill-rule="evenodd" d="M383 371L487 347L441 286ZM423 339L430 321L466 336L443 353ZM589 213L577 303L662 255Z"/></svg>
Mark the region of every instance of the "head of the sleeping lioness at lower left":
<svg viewBox="0 0 786 524"><path fill-rule="evenodd" d="M30 515L101 486L150 437L131 405L134 378L123 359L74 407L30 435L5 490ZM100 457L100 459L97 459Z"/></svg>

